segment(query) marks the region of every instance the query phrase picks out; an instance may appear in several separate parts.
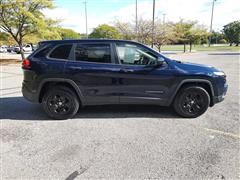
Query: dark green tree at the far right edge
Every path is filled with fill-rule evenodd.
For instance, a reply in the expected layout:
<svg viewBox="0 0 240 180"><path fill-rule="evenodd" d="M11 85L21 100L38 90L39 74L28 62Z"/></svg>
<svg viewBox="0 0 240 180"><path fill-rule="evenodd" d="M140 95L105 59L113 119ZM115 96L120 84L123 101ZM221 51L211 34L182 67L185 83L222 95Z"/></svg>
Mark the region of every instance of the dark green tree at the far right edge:
<svg viewBox="0 0 240 180"><path fill-rule="evenodd" d="M231 22L223 27L223 32L232 46L233 43L236 46L239 45L240 42L240 21Z"/></svg>

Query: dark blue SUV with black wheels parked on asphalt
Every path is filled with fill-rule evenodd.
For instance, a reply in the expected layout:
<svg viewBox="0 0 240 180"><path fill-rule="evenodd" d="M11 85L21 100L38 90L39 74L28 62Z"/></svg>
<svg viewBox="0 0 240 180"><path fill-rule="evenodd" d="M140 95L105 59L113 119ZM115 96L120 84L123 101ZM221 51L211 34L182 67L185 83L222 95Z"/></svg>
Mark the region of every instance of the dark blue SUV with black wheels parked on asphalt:
<svg viewBox="0 0 240 180"><path fill-rule="evenodd" d="M54 119L80 106L155 104L194 118L224 99L226 75L124 40L43 41L23 61L23 96Z"/></svg>

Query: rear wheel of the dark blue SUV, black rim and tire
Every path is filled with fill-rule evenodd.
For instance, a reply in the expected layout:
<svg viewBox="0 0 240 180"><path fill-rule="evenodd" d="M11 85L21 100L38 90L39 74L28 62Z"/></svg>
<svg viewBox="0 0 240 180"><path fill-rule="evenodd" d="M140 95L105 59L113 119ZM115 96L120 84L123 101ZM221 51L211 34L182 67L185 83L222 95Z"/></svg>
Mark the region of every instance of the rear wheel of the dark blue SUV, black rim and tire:
<svg viewBox="0 0 240 180"><path fill-rule="evenodd" d="M76 94L64 86L49 89L42 99L44 111L50 118L63 120L72 118L79 109Z"/></svg>

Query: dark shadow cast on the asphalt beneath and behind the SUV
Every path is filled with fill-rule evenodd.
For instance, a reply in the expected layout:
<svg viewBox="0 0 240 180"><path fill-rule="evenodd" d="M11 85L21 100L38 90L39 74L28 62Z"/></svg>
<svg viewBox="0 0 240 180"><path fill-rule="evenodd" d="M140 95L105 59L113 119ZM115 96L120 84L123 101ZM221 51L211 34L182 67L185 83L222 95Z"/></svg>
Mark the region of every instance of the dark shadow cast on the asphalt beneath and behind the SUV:
<svg viewBox="0 0 240 180"><path fill-rule="evenodd" d="M52 121L40 104L33 104L23 97L0 98L0 120ZM74 119L116 118L179 118L168 107L153 105L104 105L87 106L79 110Z"/></svg>

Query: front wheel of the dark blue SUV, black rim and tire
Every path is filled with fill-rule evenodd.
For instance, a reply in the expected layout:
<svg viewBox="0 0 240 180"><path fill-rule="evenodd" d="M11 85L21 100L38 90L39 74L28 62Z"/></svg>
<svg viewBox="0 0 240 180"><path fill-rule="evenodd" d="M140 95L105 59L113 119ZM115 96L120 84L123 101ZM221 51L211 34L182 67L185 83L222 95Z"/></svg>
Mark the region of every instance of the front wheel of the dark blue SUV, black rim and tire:
<svg viewBox="0 0 240 180"><path fill-rule="evenodd" d="M175 111L185 118L196 118L202 115L209 107L210 96L200 86L182 88L173 103Z"/></svg>

